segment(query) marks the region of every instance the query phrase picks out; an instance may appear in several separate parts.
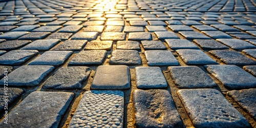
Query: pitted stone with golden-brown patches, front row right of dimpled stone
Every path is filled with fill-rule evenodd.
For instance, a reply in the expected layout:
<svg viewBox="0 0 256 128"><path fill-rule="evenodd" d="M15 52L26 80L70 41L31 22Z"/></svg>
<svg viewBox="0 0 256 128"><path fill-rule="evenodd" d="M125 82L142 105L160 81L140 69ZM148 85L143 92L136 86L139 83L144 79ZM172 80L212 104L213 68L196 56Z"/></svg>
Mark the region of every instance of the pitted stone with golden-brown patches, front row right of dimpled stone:
<svg viewBox="0 0 256 128"><path fill-rule="evenodd" d="M136 127L182 127L172 96L166 90L133 92Z"/></svg>

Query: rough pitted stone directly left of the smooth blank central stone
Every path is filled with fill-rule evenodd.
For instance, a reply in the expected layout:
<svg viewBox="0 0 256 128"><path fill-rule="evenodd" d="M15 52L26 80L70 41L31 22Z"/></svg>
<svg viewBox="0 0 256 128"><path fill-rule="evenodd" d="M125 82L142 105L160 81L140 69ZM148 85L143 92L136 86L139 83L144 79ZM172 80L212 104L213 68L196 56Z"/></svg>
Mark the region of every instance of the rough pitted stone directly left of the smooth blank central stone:
<svg viewBox="0 0 256 128"><path fill-rule="evenodd" d="M60 68L42 88L44 89L82 89L82 83L91 73L89 67Z"/></svg>

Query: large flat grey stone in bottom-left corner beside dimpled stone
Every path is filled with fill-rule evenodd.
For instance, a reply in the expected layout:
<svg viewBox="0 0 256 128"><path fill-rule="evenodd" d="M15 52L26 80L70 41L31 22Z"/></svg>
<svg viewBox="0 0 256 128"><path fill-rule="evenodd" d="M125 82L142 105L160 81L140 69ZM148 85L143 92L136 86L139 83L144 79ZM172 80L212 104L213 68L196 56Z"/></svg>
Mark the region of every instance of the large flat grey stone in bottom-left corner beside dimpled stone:
<svg viewBox="0 0 256 128"><path fill-rule="evenodd" d="M74 97L66 92L32 92L8 114L8 125L4 120L0 125L5 127L58 127ZM54 106L54 107L53 107Z"/></svg>

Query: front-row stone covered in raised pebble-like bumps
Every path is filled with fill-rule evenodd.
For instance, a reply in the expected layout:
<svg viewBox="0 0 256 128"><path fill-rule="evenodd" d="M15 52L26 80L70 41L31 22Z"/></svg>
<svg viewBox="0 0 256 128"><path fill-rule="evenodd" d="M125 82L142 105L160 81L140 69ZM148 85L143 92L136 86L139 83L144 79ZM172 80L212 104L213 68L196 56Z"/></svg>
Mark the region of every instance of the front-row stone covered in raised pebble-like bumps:
<svg viewBox="0 0 256 128"><path fill-rule="evenodd" d="M123 127L123 113L122 91L87 91L83 94L69 127Z"/></svg>

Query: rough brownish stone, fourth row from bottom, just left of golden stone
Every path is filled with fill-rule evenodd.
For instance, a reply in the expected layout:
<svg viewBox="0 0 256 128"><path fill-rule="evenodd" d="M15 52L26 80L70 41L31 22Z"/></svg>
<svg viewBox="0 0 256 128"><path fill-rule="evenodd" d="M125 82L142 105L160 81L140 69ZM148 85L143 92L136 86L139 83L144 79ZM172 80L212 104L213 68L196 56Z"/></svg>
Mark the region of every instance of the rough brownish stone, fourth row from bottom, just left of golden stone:
<svg viewBox="0 0 256 128"><path fill-rule="evenodd" d="M53 50L80 51L87 44L87 40L66 40Z"/></svg>

